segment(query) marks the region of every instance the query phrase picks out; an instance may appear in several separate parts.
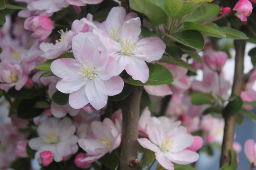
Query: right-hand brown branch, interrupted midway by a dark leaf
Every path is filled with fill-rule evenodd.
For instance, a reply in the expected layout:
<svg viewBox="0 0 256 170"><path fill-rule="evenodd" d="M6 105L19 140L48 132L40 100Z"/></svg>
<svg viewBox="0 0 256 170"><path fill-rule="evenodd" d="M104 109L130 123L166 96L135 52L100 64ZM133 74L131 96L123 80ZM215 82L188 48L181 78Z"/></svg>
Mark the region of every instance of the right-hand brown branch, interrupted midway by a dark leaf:
<svg viewBox="0 0 256 170"><path fill-rule="evenodd" d="M232 86L232 94L240 95L243 87L243 71L244 71L244 55L246 41L235 40L235 74ZM235 134L235 126L237 121L237 113L234 115L228 115L223 113L225 119L224 136L221 148L220 167L230 164L230 156L232 150L232 144Z"/></svg>

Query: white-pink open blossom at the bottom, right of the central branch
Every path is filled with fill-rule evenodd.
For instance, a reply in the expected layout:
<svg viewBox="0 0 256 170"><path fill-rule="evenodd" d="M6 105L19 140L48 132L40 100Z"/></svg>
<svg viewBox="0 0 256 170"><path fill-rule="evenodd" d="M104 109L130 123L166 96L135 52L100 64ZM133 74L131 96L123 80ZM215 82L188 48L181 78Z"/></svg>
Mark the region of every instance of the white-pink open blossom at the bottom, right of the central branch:
<svg viewBox="0 0 256 170"><path fill-rule="evenodd" d="M138 142L155 152L155 159L166 170L174 170L174 163L189 164L198 160L198 153L186 149L192 145L193 137L187 134L185 127L163 127L163 123L155 117L150 118L147 125L148 139L139 138Z"/></svg>

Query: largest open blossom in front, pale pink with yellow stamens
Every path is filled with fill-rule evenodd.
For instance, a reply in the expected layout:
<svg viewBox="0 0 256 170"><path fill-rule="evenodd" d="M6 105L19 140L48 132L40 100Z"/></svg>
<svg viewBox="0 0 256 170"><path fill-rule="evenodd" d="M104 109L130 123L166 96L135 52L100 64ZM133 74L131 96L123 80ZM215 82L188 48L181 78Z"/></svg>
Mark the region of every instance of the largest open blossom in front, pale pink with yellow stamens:
<svg viewBox="0 0 256 170"><path fill-rule="evenodd" d="M90 102L100 110L108 95L120 93L124 86L116 74L116 61L84 34L73 37L72 49L75 59L57 59L51 64L52 72L62 78L56 88L70 93L71 107L80 109Z"/></svg>

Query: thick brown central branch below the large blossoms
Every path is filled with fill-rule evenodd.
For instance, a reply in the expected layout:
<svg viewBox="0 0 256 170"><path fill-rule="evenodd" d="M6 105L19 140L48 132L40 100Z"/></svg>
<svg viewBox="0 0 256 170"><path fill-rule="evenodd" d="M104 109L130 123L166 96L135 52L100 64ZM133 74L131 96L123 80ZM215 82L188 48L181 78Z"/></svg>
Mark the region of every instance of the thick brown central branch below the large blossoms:
<svg viewBox="0 0 256 170"><path fill-rule="evenodd" d="M119 170L137 170L138 119L143 86L132 86L131 92L121 104L122 142Z"/></svg>

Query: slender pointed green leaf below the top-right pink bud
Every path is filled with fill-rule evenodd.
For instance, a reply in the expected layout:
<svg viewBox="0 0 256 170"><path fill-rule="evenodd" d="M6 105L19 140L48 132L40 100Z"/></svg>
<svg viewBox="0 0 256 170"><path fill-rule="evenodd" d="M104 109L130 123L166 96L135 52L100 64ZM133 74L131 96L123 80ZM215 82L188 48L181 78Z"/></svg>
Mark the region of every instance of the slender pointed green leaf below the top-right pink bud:
<svg viewBox="0 0 256 170"><path fill-rule="evenodd" d="M226 38L229 38L229 39L234 39L234 40L247 40L248 39L246 34L244 34L241 31L238 31L236 29L233 29L233 28L229 28L226 26L219 27L218 25L216 25L214 23L208 23L208 24L205 24L204 26L212 27L212 28L219 30L222 33L225 33ZM204 35L223 38L223 36L220 36L218 34L209 34L206 32L204 33Z"/></svg>

